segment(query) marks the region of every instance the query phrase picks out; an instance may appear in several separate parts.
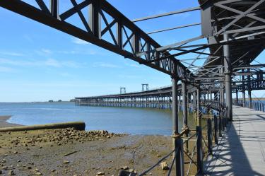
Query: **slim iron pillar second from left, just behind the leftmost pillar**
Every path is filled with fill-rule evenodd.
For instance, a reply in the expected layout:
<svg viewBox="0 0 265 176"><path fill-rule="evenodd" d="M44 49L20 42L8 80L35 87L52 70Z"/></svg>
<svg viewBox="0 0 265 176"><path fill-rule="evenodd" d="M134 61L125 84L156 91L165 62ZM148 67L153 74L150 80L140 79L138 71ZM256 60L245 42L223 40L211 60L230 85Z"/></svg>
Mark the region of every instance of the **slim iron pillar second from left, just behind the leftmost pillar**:
<svg viewBox="0 0 265 176"><path fill-rule="evenodd" d="M182 112L183 112L183 129L188 126L188 104L187 104L187 82L182 81ZM188 134L185 134L188 137ZM186 152L189 151L188 141L184 147Z"/></svg>

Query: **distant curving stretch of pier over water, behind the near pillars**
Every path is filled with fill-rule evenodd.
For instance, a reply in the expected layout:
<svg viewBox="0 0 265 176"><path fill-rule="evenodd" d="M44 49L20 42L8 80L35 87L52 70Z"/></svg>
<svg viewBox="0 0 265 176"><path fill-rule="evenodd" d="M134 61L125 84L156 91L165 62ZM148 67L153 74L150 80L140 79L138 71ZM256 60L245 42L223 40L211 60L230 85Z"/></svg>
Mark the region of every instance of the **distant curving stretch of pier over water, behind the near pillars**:
<svg viewBox="0 0 265 176"><path fill-rule="evenodd" d="M244 74L247 73L245 72ZM252 95L252 90L265 90L264 74L265 71L255 71L252 72L252 77L249 79L244 79L244 81L233 81L232 93L234 93L235 97L232 100L233 104L242 107L252 107L254 103L252 102L252 97L249 96L246 99L246 96L244 96L245 91L247 90L247 93ZM184 100L182 85L179 84L177 89L177 94L179 96L178 110L182 110L182 100ZM172 110L172 86L153 88L152 90L142 88L141 91L134 93L126 93L126 88L120 88L120 90L119 94L113 95L76 97L75 103L81 106L150 107ZM220 84L201 85L201 103L219 101L221 96L219 90ZM242 95L241 99L239 99L240 93ZM187 86L187 103L189 110L196 110L196 88L194 88L194 86Z"/></svg>

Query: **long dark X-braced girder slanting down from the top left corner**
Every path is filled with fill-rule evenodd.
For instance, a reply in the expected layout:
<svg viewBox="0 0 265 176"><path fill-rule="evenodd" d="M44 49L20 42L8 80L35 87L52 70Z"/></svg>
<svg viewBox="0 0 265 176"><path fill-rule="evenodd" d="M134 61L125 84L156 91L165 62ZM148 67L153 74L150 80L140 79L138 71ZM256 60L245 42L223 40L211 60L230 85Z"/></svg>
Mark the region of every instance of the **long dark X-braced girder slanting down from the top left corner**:
<svg viewBox="0 0 265 176"><path fill-rule="evenodd" d="M180 80L189 80L193 76L192 72L175 57L171 57L169 52L163 52L163 54L158 51L149 52L161 46L105 0L85 0L80 4L77 4L76 0L71 0L73 8L61 14L58 10L60 9L58 0L52 1L50 10L43 0L36 0L36 2L39 7L19 0L1 0L0 6ZM88 22L81 11L85 7L90 9ZM69 17L76 13L86 30L66 22ZM113 18L111 22L108 21L107 16ZM101 29L104 24L105 28ZM117 30L113 32L112 26L114 25ZM105 37L105 33L109 33L110 37ZM139 52L146 52L147 54L140 57L136 56L136 53ZM159 57L167 57L167 59L148 62Z"/></svg>

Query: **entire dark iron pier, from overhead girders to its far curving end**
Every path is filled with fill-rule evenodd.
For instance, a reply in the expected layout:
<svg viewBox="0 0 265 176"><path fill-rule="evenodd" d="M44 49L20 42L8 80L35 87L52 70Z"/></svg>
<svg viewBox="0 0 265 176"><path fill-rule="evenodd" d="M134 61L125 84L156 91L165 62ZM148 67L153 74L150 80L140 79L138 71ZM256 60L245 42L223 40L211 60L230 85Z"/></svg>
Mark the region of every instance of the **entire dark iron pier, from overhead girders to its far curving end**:
<svg viewBox="0 0 265 176"><path fill-rule="evenodd" d="M172 152L139 175L150 172L173 153L174 160L167 175L172 174L172 168L174 175L189 175L191 165L197 168L198 175L204 174L204 160L212 154L212 141L218 145L218 136L222 136L226 125L233 121L232 93L238 95L242 92L242 102L238 100L238 96L235 102L245 106L246 91L251 102L252 90L264 90L264 64L254 64L254 60L265 46L265 0L199 0L196 7L134 20L126 18L105 0L69 0L64 2L71 5L68 9L62 8L59 0L34 2L30 4L29 1L1 0L0 6L161 71L172 78L172 86L167 88L149 90L143 84L143 91L137 93L126 93L125 88L121 88L119 95L76 98L78 105L162 106L172 110ZM83 13L85 8L88 8L87 13ZM201 21L149 33L137 25L139 21L190 11L199 11ZM78 23L69 22L71 20L68 19L76 14L79 17ZM153 33L198 25L201 26L198 36L171 45L160 45L151 37ZM196 57L179 59L190 53ZM204 64L196 65L199 59L204 59ZM207 117L206 127L202 127L201 123L203 101L209 111L214 110L214 114ZM180 103L184 122L182 129L178 126ZM195 134L192 134L187 122L188 105L192 105L196 115ZM249 103L249 107L252 107L252 103ZM203 133L205 129L206 136ZM192 155L189 156L188 146L192 138L196 142ZM208 154L204 152L205 148L208 149ZM188 170L184 170L184 155L189 158ZM120 175L126 173L121 172Z"/></svg>

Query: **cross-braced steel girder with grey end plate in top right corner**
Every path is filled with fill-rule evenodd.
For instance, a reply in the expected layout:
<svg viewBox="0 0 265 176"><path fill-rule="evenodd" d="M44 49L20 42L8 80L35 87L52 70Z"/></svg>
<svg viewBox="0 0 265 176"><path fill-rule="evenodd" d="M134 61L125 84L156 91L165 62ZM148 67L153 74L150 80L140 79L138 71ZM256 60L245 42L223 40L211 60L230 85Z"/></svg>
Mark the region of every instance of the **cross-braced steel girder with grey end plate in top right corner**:
<svg viewBox="0 0 265 176"><path fill-rule="evenodd" d="M223 33L234 33L234 35L238 35L239 33L252 32L254 30L262 30L264 29L265 18L261 18L258 16L258 11L262 12L262 8L259 9L261 5L264 6L265 0L252 1L251 3L246 3L243 0L228 0L228 1L206 1L204 4L201 4L201 29L204 37L211 36L219 36ZM234 8L234 6L245 6L245 11L240 8ZM214 7L218 7L222 10L221 13L214 14ZM223 13L225 12L225 13ZM232 14L237 14L231 15ZM222 16L228 14L228 16ZM219 18L218 16L222 16ZM244 28L237 23L240 23L242 18L249 18L249 24L247 24ZM229 23L223 23L220 20L230 20ZM257 24L257 22L259 22ZM223 24L223 26L220 26ZM254 27L249 28L254 25ZM233 28L237 26L237 28ZM232 30L230 30L230 28ZM233 36L235 37L235 36ZM213 37L211 37L213 38Z"/></svg>

